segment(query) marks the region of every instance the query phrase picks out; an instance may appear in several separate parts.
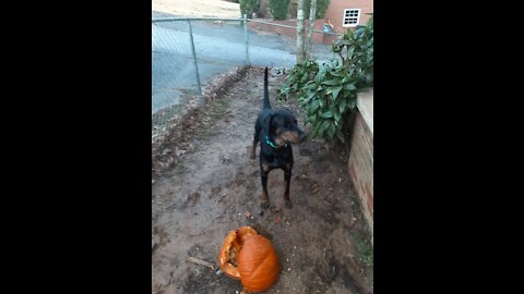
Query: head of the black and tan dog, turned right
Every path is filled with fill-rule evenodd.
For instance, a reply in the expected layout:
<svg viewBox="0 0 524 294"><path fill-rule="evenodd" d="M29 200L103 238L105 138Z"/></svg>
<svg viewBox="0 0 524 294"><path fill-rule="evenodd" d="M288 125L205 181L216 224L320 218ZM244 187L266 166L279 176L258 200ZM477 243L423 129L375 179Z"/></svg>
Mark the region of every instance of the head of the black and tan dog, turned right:
<svg viewBox="0 0 524 294"><path fill-rule="evenodd" d="M274 111L269 123L269 131L277 146L289 143L301 143L306 139L306 133L298 127L297 119L287 109Z"/></svg>

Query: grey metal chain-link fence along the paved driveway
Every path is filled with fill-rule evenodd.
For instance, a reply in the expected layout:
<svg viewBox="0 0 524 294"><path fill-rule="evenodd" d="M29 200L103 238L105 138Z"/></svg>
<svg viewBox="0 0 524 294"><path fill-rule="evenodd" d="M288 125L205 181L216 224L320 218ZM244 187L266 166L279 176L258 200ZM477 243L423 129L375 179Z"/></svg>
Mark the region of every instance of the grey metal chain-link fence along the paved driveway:
<svg viewBox="0 0 524 294"><path fill-rule="evenodd" d="M257 22L259 28L263 25L296 30L294 26L247 19L152 20L153 136L165 131L182 107L191 98L200 97L202 88L222 73L239 65L285 69L295 65L296 38L255 30L248 22ZM333 59L330 48L326 44L313 44L311 56Z"/></svg>

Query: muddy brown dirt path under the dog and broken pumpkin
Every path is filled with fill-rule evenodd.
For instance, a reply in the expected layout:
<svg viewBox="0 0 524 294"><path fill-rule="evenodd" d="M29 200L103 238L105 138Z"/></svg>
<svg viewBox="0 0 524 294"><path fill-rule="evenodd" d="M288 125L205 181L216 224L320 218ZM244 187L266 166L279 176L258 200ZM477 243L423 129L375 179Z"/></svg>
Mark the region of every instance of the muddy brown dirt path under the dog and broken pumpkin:
<svg viewBox="0 0 524 294"><path fill-rule="evenodd" d="M274 108L279 81L282 76L270 77ZM193 135L187 150L177 149L184 152L180 162L154 177L153 293L240 292L239 281L186 259L216 265L227 232L241 225L272 240L279 257L279 280L265 293L372 293L372 267L362 262L370 246L347 177L347 157L321 142L295 145L294 207L284 207L284 173L275 170L269 176L274 207L259 213L258 157L249 159L249 147L262 97L263 71L250 70L211 102L199 127L188 127ZM296 103L286 107L300 111Z"/></svg>

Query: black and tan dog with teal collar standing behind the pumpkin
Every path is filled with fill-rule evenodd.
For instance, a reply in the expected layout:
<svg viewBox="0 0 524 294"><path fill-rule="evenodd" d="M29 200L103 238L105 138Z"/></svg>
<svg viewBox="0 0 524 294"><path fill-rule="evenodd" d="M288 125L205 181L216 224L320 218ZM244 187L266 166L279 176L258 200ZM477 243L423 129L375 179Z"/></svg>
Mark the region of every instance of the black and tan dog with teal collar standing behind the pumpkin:
<svg viewBox="0 0 524 294"><path fill-rule="evenodd" d="M254 125L253 147L251 159L254 159L254 149L260 142L260 175L262 177L262 208L270 207L267 196L267 174L273 169L284 170L286 192L284 199L287 208L291 208L289 199L289 182L291 181L293 149L291 143L306 139L306 133L297 125L297 119L287 110L273 110L270 105L267 90L267 68L264 72L264 106Z"/></svg>

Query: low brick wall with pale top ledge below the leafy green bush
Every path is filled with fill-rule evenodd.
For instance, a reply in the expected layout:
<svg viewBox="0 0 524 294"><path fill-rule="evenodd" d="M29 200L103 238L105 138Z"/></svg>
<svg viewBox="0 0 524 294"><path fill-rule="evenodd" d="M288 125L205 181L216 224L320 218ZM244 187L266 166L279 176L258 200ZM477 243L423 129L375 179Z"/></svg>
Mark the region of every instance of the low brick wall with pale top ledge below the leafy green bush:
<svg viewBox="0 0 524 294"><path fill-rule="evenodd" d="M360 199L366 222L373 235L373 93L358 95L358 109L349 154L349 176ZM371 237L372 240L372 237ZM371 241L372 242L372 241Z"/></svg>

